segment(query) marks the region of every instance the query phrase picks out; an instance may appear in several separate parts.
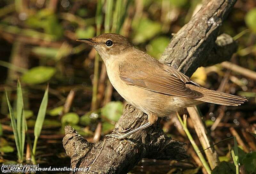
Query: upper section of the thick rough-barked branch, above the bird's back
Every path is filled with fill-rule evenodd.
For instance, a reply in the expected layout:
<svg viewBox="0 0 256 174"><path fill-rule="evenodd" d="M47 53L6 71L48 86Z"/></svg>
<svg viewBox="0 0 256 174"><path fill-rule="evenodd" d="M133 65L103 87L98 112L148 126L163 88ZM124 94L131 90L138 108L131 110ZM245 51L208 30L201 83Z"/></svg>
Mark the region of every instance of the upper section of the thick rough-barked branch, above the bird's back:
<svg viewBox="0 0 256 174"><path fill-rule="evenodd" d="M227 40L217 41L219 46L215 41L222 21L228 16L235 3L236 0L206 1L195 16L172 37L160 60L191 76L198 67L207 65L209 60L212 62L211 58L228 54L218 50L219 46L223 45L222 42ZM230 49L228 45L225 46L230 53L233 53L234 49ZM222 47L222 51L225 50L225 46ZM215 56L210 56L210 53ZM219 58L217 60L222 62Z"/></svg>

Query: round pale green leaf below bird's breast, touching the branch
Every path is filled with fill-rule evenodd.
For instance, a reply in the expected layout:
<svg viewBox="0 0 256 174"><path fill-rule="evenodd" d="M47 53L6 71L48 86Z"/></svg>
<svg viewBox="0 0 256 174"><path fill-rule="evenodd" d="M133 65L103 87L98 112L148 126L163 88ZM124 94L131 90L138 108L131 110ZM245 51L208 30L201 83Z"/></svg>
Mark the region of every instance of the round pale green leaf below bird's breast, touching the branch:
<svg viewBox="0 0 256 174"><path fill-rule="evenodd" d="M123 103L118 102L108 102L102 109L101 115L107 117L109 120L118 121L123 113Z"/></svg>

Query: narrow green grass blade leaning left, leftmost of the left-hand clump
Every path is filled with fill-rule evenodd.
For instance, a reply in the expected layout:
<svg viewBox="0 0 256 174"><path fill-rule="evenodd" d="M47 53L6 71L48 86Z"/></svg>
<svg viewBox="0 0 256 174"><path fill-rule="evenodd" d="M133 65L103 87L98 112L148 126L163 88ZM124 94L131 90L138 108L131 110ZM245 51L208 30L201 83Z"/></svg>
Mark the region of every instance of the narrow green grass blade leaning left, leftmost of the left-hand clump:
<svg viewBox="0 0 256 174"><path fill-rule="evenodd" d="M19 144L19 137L17 134L17 125L16 125L16 120L14 118L14 114L13 114L13 110L12 110L12 105L9 101L8 95L7 95L7 91L5 90L5 95L6 95L6 100L7 100L7 104L8 104L8 108L9 108L9 112L10 112L10 118L11 118L11 123L12 123L12 131L13 131L13 135L14 135L14 140L15 140L15 144L16 144L16 148L17 148L17 155L19 160L22 159L22 157L20 156L20 144Z"/></svg>

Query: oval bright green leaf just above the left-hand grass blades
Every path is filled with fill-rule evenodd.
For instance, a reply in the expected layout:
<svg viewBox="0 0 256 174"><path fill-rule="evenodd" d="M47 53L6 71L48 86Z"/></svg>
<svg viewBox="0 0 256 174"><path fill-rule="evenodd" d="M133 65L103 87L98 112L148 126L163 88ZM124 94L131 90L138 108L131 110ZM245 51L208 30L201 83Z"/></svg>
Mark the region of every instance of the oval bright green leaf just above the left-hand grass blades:
<svg viewBox="0 0 256 174"><path fill-rule="evenodd" d="M27 84L40 84L50 80L55 72L53 67L37 66L25 72L21 79Z"/></svg>

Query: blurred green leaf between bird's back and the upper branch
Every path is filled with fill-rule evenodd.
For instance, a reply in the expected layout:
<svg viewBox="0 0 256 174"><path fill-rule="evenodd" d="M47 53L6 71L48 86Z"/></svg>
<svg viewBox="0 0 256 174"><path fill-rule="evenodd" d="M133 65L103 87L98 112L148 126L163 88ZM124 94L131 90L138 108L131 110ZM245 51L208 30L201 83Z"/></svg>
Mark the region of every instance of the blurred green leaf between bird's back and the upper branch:
<svg viewBox="0 0 256 174"><path fill-rule="evenodd" d="M164 52L164 49L169 44L170 39L168 37L157 37L149 42L146 49L149 55L159 59L161 54Z"/></svg>

